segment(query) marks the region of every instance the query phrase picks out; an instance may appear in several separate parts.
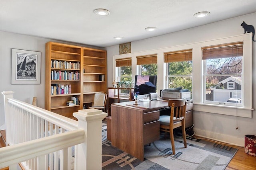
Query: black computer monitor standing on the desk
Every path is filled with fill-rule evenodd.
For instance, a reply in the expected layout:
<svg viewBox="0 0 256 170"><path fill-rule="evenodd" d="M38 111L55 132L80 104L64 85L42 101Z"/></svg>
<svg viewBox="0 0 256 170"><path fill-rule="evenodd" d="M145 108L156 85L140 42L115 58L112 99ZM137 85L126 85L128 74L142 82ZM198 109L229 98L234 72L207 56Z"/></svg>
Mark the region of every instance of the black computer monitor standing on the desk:
<svg viewBox="0 0 256 170"><path fill-rule="evenodd" d="M157 76L135 76L134 92L138 95L144 95L148 93L156 92Z"/></svg>

